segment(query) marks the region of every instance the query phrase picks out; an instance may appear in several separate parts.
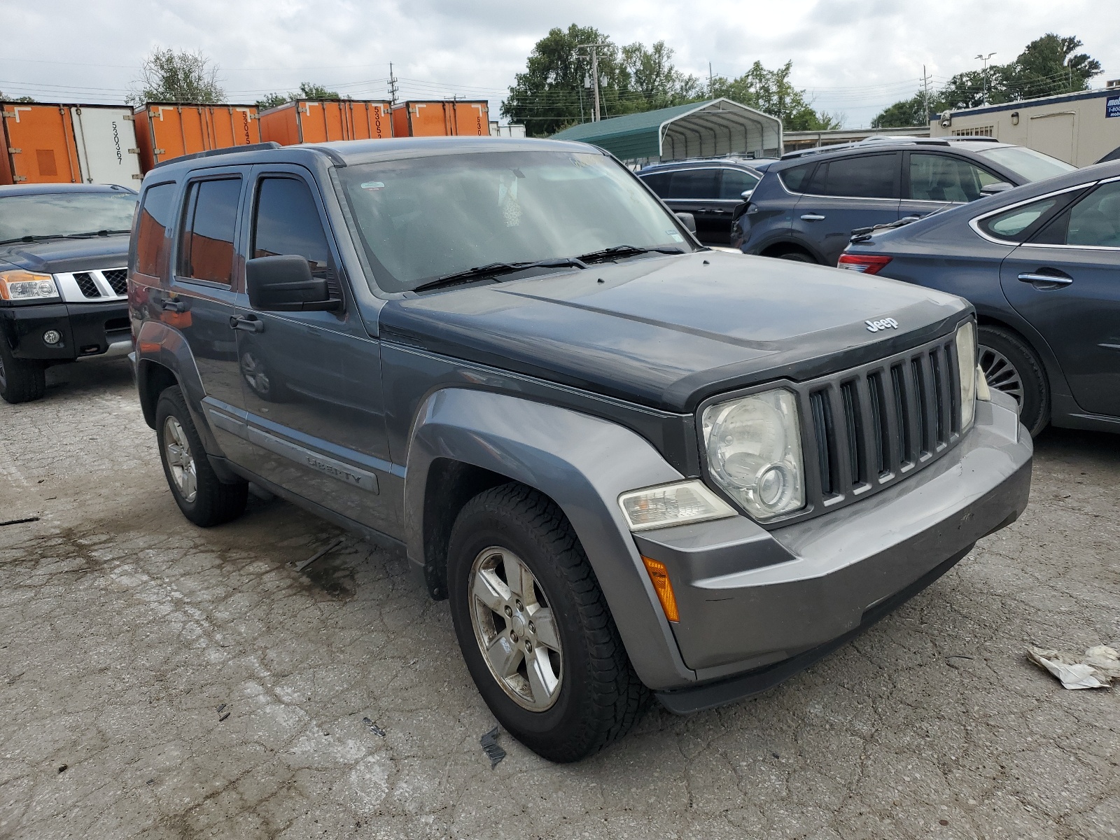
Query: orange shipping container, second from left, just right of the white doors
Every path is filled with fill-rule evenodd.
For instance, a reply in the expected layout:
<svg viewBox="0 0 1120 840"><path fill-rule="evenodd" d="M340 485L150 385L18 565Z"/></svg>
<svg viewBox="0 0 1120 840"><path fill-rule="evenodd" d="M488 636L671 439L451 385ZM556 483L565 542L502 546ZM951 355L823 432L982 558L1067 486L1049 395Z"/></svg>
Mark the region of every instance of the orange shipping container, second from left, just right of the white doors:
<svg viewBox="0 0 1120 840"><path fill-rule="evenodd" d="M261 142L256 105L149 102L136 109L136 132L146 172L183 155Z"/></svg>

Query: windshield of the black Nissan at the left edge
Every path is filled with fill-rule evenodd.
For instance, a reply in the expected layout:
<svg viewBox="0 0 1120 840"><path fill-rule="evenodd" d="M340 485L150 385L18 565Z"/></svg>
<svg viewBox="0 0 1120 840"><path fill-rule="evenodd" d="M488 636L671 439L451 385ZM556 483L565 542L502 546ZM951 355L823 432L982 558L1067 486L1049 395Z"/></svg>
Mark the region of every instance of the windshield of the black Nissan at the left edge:
<svg viewBox="0 0 1120 840"><path fill-rule="evenodd" d="M37 193L0 197L0 243L128 233L137 194Z"/></svg>

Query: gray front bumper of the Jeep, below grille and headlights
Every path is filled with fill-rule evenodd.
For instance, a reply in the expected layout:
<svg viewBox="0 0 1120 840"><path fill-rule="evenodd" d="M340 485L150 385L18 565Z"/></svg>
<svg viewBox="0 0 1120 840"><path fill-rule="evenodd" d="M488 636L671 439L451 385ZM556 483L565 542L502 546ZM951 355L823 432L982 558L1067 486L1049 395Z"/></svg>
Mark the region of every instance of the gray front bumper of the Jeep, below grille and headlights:
<svg viewBox="0 0 1120 840"><path fill-rule="evenodd" d="M745 517L636 534L673 582L673 632L697 682L662 687L673 711L758 693L935 580L1027 504L1033 447L993 393L954 450L834 513L764 531Z"/></svg>

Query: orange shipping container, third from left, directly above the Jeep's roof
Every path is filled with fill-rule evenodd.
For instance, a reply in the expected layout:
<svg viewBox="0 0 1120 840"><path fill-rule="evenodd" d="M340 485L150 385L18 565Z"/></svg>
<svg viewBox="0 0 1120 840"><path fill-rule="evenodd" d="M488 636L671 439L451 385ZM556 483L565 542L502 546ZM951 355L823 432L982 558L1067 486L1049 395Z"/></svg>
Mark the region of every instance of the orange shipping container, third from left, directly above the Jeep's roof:
<svg viewBox="0 0 1120 840"><path fill-rule="evenodd" d="M281 146L392 137L389 103L379 100L297 100L262 111L261 139Z"/></svg>

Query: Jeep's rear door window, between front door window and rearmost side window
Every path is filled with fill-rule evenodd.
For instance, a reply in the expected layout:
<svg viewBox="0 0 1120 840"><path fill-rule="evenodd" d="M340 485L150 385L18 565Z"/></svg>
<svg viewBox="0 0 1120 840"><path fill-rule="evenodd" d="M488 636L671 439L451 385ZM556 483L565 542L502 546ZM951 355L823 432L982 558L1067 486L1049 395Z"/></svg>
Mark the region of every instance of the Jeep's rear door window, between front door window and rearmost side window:
<svg viewBox="0 0 1120 840"><path fill-rule="evenodd" d="M179 277L232 283L240 199L241 178L190 185L179 235Z"/></svg>

